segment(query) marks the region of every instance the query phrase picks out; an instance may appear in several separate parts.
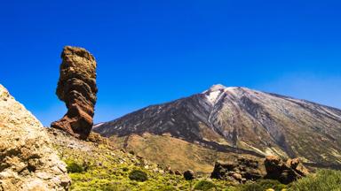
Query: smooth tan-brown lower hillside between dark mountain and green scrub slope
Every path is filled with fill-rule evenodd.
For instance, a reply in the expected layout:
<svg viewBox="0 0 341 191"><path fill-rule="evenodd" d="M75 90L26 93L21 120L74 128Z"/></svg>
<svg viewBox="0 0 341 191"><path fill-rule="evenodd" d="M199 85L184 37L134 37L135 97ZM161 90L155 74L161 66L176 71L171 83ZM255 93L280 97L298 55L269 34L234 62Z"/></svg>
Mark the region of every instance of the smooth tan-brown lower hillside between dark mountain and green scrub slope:
<svg viewBox="0 0 341 191"><path fill-rule="evenodd" d="M196 173L210 174L216 161L234 162L241 157L237 153L218 152L167 134L145 133L123 137L112 136L110 143L115 149L133 151L139 157L180 172L191 169ZM258 160L259 164L264 164L264 158L251 155L242 155L242 157Z"/></svg>

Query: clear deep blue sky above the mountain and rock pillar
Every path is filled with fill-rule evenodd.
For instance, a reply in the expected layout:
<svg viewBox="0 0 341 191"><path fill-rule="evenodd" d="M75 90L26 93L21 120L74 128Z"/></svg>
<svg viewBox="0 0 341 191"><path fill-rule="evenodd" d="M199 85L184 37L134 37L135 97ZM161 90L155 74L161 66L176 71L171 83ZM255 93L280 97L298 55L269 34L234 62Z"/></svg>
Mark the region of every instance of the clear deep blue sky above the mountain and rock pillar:
<svg viewBox="0 0 341 191"><path fill-rule="evenodd" d="M202 92L255 88L341 108L341 3L3 1L0 83L49 125L64 45L98 61L95 122Z"/></svg>

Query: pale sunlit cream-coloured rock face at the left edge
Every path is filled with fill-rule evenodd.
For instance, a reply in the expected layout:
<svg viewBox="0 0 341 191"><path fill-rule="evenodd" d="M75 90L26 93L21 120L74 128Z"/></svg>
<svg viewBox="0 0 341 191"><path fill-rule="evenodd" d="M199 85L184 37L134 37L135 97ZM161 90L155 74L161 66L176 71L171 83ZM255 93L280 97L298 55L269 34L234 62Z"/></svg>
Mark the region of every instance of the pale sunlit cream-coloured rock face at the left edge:
<svg viewBox="0 0 341 191"><path fill-rule="evenodd" d="M0 85L0 190L67 190L69 185L66 164L44 126Z"/></svg>

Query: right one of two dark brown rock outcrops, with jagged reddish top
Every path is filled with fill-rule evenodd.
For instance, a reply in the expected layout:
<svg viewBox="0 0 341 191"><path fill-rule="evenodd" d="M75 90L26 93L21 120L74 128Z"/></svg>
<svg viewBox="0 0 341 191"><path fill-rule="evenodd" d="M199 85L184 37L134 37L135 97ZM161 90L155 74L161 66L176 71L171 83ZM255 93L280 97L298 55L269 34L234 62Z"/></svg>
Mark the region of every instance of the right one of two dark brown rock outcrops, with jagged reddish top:
<svg viewBox="0 0 341 191"><path fill-rule="evenodd" d="M298 158L288 159L285 163L280 157L268 156L265 165L266 179L279 180L283 184L289 184L309 173Z"/></svg>

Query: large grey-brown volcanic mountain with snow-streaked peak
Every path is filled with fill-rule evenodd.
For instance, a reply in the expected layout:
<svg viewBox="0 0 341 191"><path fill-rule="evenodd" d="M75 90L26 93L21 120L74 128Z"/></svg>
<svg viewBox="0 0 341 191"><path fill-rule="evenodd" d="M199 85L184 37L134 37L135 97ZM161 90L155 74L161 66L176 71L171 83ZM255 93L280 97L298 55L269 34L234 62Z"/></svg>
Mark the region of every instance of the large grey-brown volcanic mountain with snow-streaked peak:
<svg viewBox="0 0 341 191"><path fill-rule="evenodd" d="M341 164L341 111L249 88L215 85L202 94L100 124L94 131L107 137L171 134L219 151Z"/></svg>

